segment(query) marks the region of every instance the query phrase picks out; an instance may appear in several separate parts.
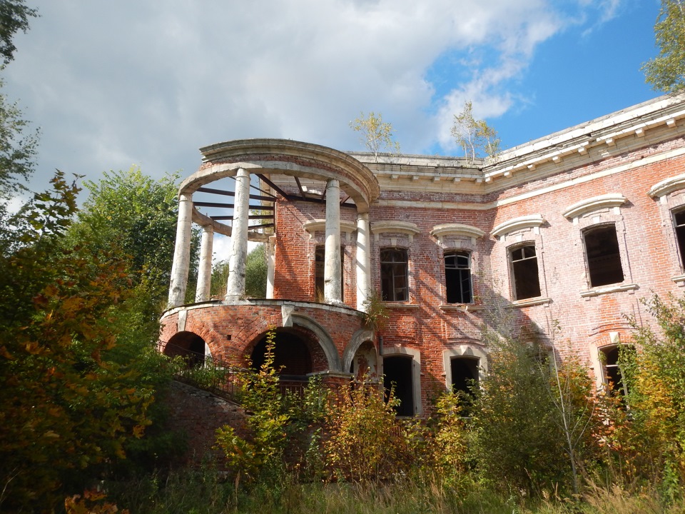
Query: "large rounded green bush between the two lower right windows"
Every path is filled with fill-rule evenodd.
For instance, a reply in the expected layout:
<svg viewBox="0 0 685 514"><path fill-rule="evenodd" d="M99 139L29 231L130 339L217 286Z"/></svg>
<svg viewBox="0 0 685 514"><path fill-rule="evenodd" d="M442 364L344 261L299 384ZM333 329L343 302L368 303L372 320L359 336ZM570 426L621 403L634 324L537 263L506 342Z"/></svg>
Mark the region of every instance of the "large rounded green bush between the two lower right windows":
<svg viewBox="0 0 685 514"><path fill-rule="evenodd" d="M539 348L487 332L487 377L474 390L470 423L484 480L504 493L554 489L567 475L564 436Z"/></svg>

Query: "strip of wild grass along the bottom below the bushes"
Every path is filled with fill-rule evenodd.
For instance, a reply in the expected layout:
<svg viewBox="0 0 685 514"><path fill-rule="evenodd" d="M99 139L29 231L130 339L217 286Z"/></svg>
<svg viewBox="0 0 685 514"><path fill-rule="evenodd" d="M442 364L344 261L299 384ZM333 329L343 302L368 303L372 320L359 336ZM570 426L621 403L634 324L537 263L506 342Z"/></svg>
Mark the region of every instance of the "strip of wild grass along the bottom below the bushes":
<svg viewBox="0 0 685 514"><path fill-rule="evenodd" d="M210 468L153 476L110 488L109 500L136 514L676 514L685 501L663 505L654 490L627 492L590 483L582 498L530 500L472 484L463 490L432 480L383 484L298 483L290 474L249 488L220 480Z"/></svg>

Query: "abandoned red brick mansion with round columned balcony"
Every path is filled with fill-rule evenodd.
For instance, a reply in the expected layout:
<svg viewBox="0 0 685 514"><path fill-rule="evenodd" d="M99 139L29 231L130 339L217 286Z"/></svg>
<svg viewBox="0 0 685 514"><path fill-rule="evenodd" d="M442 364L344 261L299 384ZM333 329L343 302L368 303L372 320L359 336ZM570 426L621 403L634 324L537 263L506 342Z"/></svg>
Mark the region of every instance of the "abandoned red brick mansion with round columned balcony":
<svg viewBox="0 0 685 514"><path fill-rule="evenodd" d="M685 291L685 95L492 161L281 139L201 153L179 191L167 353L259 363L273 326L284 381L369 371L397 384L400 415L421 415L436 388L487 372L494 311L524 338L570 343L601 386L630 340L626 315L653 323L640 298ZM186 303L193 224L201 258ZM210 297L215 234L230 236L221 298ZM248 241L265 245L266 298L245 296ZM360 316L372 297L389 315L378 331Z"/></svg>

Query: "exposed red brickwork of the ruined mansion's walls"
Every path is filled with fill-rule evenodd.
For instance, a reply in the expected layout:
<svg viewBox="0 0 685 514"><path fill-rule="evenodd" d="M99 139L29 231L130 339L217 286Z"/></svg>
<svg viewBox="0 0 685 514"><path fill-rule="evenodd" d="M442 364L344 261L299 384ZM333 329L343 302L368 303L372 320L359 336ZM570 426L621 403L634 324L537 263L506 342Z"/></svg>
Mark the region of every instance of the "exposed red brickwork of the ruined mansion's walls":
<svg viewBox="0 0 685 514"><path fill-rule="evenodd" d="M656 109L652 119L663 114ZM676 106L671 104L663 109L676 112ZM646 123L644 111L640 113L635 115L635 126ZM560 133L559 141L564 139L564 144L569 145L576 141L580 145L579 149L573 147L565 153L560 143L545 147L545 141L512 151L513 156L505 157L514 163L514 171L506 173L504 166L508 161L491 166L489 171L460 168L457 164L450 164L452 167L445 171L443 161L437 159L431 165L427 157L417 158L420 163L413 165L365 163L380 183L380 196L372 201L369 210L372 232L374 223L381 221L412 223L418 231L411 236L402 231L372 233L370 256L372 288L380 291L381 249L407 250L409 299L387 304L390 320L380 336L384 351L410 355L416 366L420 362L420 388L416 388L420 396L415 398L420 410L425 412L436 388L446 386L445 366L449 366L449 360L445 352L455 348L482 352L480 333L484 325L510 325L524 338L557 346L562 353L573 348L589 368L597 368L598 348L629 341L631 328L626 316L634 317L637 323L652 323L640 298L651 296L652 292L665 295L683 291L685 280L674 281L684 269L671 211L685 206L685 194L676 190L662 200L647 194L659 181L685 173L685 151L681 151L685 148L683 121L660 121L638 132L626 128L628 118L619 113L616 126L620 126L621 132L615 137L600 137L604 132L619 130L614 128L613 121L609 123L609 118L600 119L596 125L589 122L581 126L578 136L564 139L565 133ZM597 128L584 132L590 126ZM557 141L553 136L549 141ZM572 141L573 137L577 140ZM544 156L544 151L549 155ZM339 167L332 167L325 160L317 161L311 154L298 159L293 155L246 153L235 156L233 161L250 159L319 168L320 173L313 171L314 181L323 180L327 170L335 168L340 172ZM284 173L289 175L290 171ZM501 174L492 178L497 173ZM347 180L357 182L352 176ZM286 191L298 193L294 182L288 183L284 178L278 183ZM620 194L626 201L620 206L591 209L576 218L564 216L564 211L574 203L609 194ZM355 225L356 216L354 209L341 208L342 221ZM493 228L521 216L542 216L544 221L514 228L497 237L492 235ZM278 301L232 306L208 303L183 311L185 321L179 321L181 311L171 311L163 318L161 340L169 341L178 330L191 331L203 338L213 356L244 363L245 355L269 326L291 331L296 328L312 354L313 370L338 373L339 380L339 373L349 370L331 369L331 363L342 363L364 342L360 341L360 319L353 310L357 240L354 231L341 238L343 301L348 308L323 308L309 303L315 298L315 249L323 245L325 234L308 233L304 225L323 218L323 202L276 202L274 296L290 301L290 307L286 308L288 302ZM431 235L436 226L449 223L477 228L484 236ZM623 281L591 287L583 234L594 226L615 228ZM516 301L510 252L521 243L535 248L541 293L539 298ZM455 249L471 256L474 301L469 305L446 305L444 255ZM288 309L294 317L288 318ZM283 327L287 320L290 328ZM555 326L561 328L559 334ZM332 347L328 348L322 338L332 341ZM371 339L380 351L380 340ZM378 362L382 363L380 355ZM382 369L378 371L382 373ZM599 369L594 371L601 375Z"/></svg>

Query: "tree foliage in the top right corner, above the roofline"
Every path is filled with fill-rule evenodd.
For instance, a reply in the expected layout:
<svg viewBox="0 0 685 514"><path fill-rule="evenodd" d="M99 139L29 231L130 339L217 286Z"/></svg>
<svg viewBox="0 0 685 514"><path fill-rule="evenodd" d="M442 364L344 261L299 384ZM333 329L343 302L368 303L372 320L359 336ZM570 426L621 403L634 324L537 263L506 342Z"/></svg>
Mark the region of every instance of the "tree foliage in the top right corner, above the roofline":
<svg viewBox="0 0 685 514"><path fill-rule="evenodd" d="M678 91L685 85L685 5L682 0L661 0L654 25L659 56L642 65L647 84L658 91Z"/></svg>

